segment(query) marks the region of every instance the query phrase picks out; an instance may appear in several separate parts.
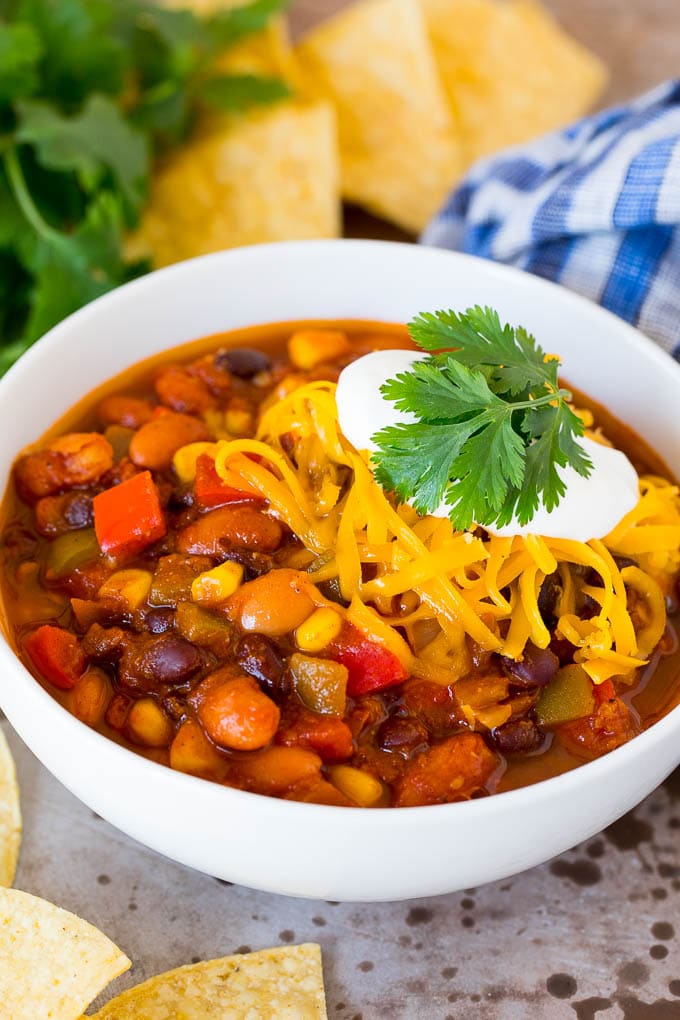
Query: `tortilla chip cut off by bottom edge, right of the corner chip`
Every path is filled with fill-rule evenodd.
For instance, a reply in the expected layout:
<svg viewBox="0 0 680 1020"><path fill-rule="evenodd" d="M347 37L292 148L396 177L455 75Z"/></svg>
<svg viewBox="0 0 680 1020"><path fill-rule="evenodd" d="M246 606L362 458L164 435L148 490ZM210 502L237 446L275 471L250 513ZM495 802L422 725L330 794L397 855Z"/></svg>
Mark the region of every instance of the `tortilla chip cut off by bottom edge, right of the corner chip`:
<svg viewBox="0 0 680 1020"><path fill-rule="evenodd" d="M178 967L117 996L97 1020L325 1020L319 947L282 946Z"/></svg>

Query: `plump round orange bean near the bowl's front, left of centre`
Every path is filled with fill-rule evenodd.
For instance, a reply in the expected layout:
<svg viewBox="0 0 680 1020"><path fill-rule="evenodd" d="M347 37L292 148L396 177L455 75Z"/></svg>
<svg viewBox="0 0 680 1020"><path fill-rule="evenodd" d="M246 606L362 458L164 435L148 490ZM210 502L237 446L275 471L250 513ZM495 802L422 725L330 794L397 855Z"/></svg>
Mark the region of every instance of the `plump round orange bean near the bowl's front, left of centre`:
<svg viewBox="0 0 680 1020"><path fill-rule="evenodd" d="M251 676L237 676L213 687L199 707L199 718L218 747L257 751L278 727L280 713Z"/></svg>

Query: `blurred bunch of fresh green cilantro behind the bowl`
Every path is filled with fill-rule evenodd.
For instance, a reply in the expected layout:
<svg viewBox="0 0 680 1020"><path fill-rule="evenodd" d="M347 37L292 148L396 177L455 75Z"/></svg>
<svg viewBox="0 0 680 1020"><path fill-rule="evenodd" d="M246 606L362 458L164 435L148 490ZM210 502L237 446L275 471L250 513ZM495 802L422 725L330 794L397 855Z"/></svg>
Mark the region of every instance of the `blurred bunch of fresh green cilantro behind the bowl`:
<svg viewBox="0 0 680 1020"><path fill-rule="evenodd" d="M285 0L199 18L145 0L0 0L0 374L43 333L145 271L121 237L152 160L204 106L287 94L224 51Z"/></svg>

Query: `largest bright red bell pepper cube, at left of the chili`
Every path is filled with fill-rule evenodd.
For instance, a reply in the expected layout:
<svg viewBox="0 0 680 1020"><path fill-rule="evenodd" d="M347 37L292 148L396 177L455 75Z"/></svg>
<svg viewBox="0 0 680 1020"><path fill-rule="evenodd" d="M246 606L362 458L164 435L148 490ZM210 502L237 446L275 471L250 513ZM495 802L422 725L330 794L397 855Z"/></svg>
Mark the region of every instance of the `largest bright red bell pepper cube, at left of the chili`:
<svg viewBox="0 0 680 1020"><path fill-rule="evenodd" d="M97 541L114 559L135 556L167 530L151 471L142 471L99 493L92 505Z"/></svg>

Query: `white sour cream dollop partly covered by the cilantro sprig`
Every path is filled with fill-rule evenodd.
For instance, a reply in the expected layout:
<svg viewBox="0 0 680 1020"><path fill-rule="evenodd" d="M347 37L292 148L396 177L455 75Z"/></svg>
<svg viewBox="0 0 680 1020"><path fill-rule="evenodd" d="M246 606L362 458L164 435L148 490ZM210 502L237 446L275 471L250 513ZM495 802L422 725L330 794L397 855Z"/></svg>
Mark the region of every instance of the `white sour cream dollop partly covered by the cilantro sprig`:
<svg viewBox="0 0 680 1020"><path fill-rule="evenodd" d="M379 429L417 420L385 400L380 387L425 357L414 351L374 351L343 369L335 394L337 417L344 435L357 450L372 453L377 448L371 436ZM572 467L559 468L567 491L555 510L548 513L540 505L528 524L514 519L504 527L488 526L486 530L498 536L541 534L576 542L609 534L638 501L637 473L620 450L586 437L580 443L592 461L592 471L583 478ZM434 516L448 517L449 509L441 504Z"/></svg>

